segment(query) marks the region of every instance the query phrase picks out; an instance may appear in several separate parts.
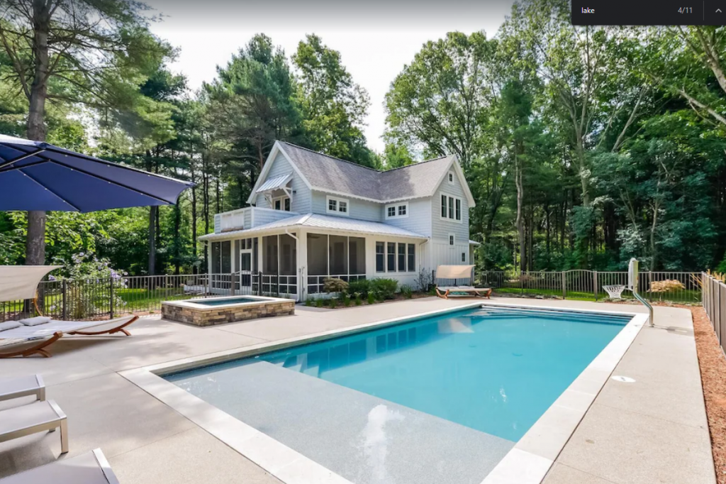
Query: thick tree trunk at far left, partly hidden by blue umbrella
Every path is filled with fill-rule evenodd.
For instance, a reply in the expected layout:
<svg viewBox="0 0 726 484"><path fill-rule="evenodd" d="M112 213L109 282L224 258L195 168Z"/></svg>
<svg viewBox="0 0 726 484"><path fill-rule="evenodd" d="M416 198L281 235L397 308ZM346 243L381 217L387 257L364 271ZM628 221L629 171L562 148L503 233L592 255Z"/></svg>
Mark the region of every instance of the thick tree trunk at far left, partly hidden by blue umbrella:
<svg viewBox="0 0 726 484"><path fill-rule="evenodd" d="M25 134L30 140L45 141L45 102L48 94L48 33L50 2L33 0L33 84L28 100L28 124ZM28 235L25 238L25 264L45 264L44 211L28 211Z"/></svg>

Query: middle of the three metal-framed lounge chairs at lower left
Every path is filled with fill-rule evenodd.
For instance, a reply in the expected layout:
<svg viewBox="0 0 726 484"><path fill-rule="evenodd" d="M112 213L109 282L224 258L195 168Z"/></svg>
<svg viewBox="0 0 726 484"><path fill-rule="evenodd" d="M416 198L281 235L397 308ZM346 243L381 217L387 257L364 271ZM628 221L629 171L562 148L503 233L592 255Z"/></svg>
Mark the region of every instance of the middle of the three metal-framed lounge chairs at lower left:
<svg viewBox="0 0 726 484"><path fill-rule="evenodd" d="M58 427L60 427L60 453L67 453L68 423L65 414L53 400L0 411L0 442L38 432L54 432Z"/></svg>

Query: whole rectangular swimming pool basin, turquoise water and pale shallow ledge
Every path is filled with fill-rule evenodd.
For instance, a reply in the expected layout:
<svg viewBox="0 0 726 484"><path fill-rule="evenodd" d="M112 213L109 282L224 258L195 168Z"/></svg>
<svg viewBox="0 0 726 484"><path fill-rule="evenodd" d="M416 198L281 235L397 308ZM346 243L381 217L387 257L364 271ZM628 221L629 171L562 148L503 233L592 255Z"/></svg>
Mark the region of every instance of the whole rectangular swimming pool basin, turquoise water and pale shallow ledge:
<svg viewBox="0 0 726 484"><path fill-rule="evenodd" d="M480 307L164 378L352 483L478 484L631 318Z"/></svg>

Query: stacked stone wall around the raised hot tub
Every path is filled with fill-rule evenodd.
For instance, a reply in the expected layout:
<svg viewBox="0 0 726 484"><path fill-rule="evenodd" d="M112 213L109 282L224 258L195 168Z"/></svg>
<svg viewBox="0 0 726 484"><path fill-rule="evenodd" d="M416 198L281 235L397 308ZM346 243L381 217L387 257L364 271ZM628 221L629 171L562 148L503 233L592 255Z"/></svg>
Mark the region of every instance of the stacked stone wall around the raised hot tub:
<svg viewBox="0 0 726 484"><path fill-rule="evenodd" d="M164 319L179 321L180 323L213 326L248 319L293 315L295 314L295 301L292 299L277 299L274 301L236 304L228 307L211 306L204 309L162 302L161 314Z"/></svg>

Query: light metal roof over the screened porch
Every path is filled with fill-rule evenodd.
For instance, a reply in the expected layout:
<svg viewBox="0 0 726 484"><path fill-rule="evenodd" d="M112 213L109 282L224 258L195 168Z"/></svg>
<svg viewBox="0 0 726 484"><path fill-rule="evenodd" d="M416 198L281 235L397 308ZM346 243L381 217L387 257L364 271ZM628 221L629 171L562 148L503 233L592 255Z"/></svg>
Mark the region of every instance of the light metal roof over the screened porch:
<svg viewBox="0 0 726 484"><path fill-rule="evenodd" d="M400 227L384 224L381 222L370 222L368 220L351 219L343 217L334 217L332 215L322 214L303 214L287 217L286 219L270 222L269 224L259 225L246 230L231 230L224 233L211 233L202 235L200 241L218 241L234 238L242 238L247 235L261 235L264 233L279 233L290 228L313 228L320 229L322 232L348 232L365 235L387 235L391 237L406 237L428 239L425 235L404 230Z"/></svg>

